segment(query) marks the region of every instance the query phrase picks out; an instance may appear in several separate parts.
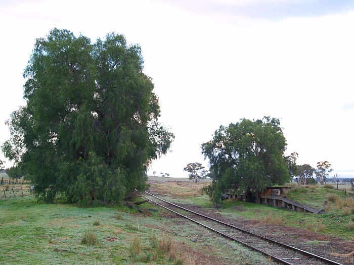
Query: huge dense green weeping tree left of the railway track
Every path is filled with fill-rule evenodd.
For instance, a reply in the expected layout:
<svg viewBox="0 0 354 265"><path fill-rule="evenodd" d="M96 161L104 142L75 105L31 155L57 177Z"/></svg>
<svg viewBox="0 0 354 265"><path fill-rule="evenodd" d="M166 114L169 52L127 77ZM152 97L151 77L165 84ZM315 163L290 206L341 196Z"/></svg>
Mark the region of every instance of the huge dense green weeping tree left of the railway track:
<svg viewBox="0 0 354 265"><path fill-rule="evenodd" d="M25 107L2 145L39 199L119 202L146 188L146 170L174 135L158 122L139 45L107 34L95 43L68 30L38 38L24 70Z"/></svg>

